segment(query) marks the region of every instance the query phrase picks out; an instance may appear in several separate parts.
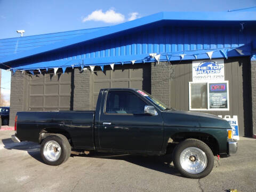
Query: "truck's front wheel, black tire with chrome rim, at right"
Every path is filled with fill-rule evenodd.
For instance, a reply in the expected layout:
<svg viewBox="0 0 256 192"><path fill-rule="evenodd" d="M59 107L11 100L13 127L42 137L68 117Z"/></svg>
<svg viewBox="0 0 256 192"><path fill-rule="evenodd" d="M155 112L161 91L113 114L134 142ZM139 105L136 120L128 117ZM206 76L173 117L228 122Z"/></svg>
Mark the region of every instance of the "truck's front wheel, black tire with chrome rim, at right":
<svg viewBox="0 0 256 192"><path fill-rule="evenodd" d="M186 139L173 151L173 164L187 178L199 179L208 175L213 168L212 150L202 141Z"/></svg>

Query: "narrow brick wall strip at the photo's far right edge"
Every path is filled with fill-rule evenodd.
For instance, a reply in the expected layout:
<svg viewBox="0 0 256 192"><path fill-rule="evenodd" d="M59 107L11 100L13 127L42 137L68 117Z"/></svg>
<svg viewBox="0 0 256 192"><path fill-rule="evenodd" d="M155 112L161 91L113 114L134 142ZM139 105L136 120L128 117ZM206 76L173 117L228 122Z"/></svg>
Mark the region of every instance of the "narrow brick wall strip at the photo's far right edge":
<svg viewBox="0 0 256 192"><path fill-rule="evenodd" d="M252 127L256 134L256 61L251 61L251 84L252 84Z"/></svg>

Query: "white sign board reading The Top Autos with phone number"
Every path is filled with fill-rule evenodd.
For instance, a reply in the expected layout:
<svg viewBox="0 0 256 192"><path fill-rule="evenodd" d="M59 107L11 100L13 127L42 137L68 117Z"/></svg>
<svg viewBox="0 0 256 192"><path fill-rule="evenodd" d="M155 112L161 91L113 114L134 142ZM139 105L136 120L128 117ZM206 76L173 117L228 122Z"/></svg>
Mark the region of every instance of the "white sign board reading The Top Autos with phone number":
<svg viewBox="0 0 256 192"><path fill-rule="evenodd" d="M193 82L224 81L224 60L201 60L192 62Z"/></svg>

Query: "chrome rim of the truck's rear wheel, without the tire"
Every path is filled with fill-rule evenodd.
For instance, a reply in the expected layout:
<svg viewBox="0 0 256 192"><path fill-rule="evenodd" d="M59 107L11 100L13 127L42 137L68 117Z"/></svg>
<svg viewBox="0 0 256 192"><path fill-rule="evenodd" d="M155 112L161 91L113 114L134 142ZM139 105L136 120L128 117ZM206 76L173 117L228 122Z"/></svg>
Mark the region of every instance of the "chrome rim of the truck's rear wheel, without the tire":
<svg viewBox="0 0 256 192"><path fill-rule="evenodd" d="M55 162L60 158L61 147L56 141L47 141L43 150L45 158L50 162Z"/></svg>

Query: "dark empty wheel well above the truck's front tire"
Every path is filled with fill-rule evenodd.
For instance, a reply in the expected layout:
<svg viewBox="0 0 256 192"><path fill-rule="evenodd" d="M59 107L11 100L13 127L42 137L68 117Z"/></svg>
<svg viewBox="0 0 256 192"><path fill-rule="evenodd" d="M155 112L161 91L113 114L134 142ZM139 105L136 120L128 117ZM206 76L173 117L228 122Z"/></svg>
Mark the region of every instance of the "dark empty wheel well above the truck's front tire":
<svg viewBox="0 0 256 192"><path fill-rule="evenodd" d="M219 154L219 143L217 139L215 139L212 135L207 133L182 132L182 133L174 134L171 137L171 140L173 140L173 143L177 143L190 138L203 141L208 147L210 147L213 155Z"/></svg>

